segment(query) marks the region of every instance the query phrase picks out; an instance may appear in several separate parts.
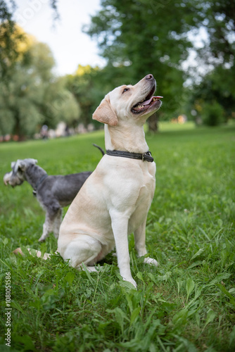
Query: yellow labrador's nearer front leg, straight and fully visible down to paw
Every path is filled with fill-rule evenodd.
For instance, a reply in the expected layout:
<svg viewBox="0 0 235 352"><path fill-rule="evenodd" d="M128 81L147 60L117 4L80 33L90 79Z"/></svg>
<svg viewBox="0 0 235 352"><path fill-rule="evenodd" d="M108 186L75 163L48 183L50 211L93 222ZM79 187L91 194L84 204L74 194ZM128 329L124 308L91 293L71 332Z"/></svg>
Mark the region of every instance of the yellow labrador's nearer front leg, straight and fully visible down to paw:
<svg viewBox="0 0 235 352"><path fill-rule="evenodd" d="M115 239L115 246L118 256L118 268L122 279L130 282L136 287L129 266L129 248L128 248L128 237L127 228L129 217L125 214L118 212L117 210L110 211L110 217L112 221L113 235Z"/></svg>

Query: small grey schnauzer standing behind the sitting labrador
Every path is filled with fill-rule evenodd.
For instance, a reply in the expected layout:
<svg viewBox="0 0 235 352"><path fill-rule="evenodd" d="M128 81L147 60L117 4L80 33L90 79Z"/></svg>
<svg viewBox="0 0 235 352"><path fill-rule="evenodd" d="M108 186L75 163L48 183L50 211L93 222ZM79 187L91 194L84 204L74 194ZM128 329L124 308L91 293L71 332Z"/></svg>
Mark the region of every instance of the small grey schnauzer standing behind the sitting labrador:
<svg viewBox="0 0 235 352"><path fill-rule="evenodd" d="M58 238L62 207L72 203L91 172L49 176L36 163L37 160L30 158L11 163L12 171L4 175L4 183L15 187L27 181L32 186L34 196L37 197L42 208L46 210L43 233L39 238L39 241L44 241L50 232L53 232L54 236Z"/></svg>

